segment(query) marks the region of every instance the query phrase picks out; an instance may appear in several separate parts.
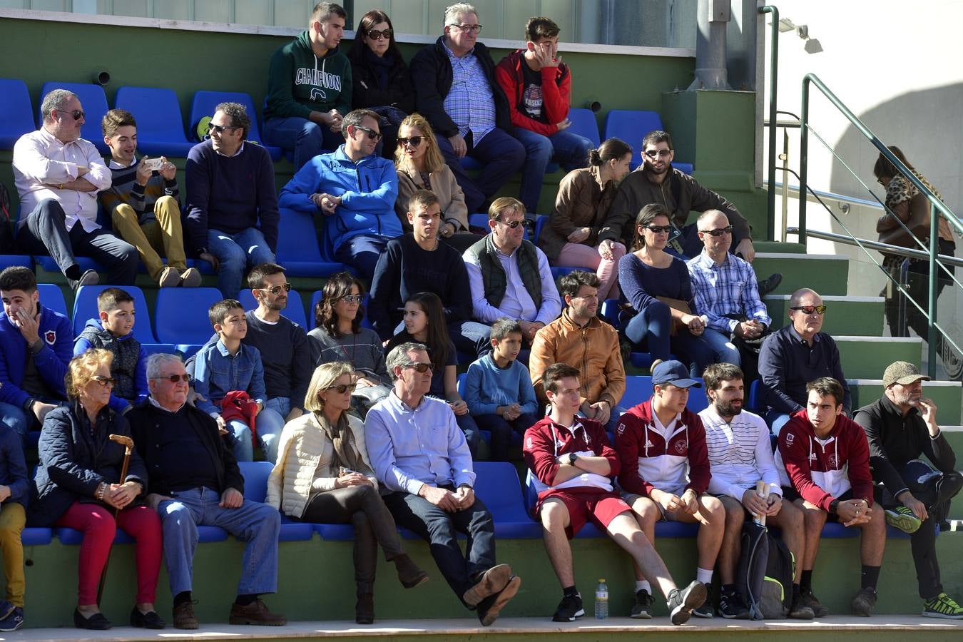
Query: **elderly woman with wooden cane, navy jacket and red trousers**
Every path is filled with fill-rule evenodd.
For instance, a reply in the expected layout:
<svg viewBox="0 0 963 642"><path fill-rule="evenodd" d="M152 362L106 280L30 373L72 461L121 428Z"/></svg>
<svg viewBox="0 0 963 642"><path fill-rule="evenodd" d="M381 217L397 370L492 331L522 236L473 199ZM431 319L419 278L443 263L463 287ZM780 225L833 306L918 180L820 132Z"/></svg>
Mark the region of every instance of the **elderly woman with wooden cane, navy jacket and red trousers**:
<svg viewBox="0 0 963 642"><path fill-rule="evenodd" d="M154 610L163 551L161 521L139 499L147 472L136 450L125 454L130 447L125 448L124 438L130 437L130 428L108 405L113 358L109 350L92 349L70 361L65 377L70 402L51 410L40 432L40 463L27 525L66 526L84 534L73 612L78 629L111 628L97 603L97 582L117 527L131 535L137 541L138 578L131 626L163 629L164 621Z"/></svg>

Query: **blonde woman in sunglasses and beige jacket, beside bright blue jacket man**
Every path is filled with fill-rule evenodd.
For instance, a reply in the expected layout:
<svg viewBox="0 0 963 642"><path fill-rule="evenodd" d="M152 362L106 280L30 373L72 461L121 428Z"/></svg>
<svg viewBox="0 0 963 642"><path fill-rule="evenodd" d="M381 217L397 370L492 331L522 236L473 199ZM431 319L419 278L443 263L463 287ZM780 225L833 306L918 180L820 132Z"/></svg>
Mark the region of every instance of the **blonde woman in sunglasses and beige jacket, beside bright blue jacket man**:
<svg viewBox="0 0 963 642"><path fill-rule="evenodd" d="M438 197L441 205L441 229L438 236L459 252L464 252L481 239L468 229L468 206L465 194L455 181L455 174L445 164L438 149L434 131L428 120L420 114L412 114L402 120L398 131L398 149L395 151L395 168L398 169L398 199L395 213L402 220L405 232L411 231L408 223L408 199L418 190L429 190Z"/></svg>

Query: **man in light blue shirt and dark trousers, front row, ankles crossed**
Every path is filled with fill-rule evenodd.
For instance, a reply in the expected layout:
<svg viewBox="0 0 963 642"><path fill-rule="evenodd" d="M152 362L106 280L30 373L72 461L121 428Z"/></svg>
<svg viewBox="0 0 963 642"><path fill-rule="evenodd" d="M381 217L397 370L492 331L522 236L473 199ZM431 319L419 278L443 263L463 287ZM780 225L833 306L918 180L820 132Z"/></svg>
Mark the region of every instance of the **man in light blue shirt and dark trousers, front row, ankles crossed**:
<svg viewBox="0 0 963 642"><path fill-rule="evenodd" d="M395 382L365 420L365 441L395 522L429 541L431 556L455 595L489 626L522 580L495 563L495 525L475 497L468 444L448 404L425 397L431 360L422 344L394 347L387 358ZM438 523L444 523L439 527ZM465 553L455 531L468 536Z"/></svg>

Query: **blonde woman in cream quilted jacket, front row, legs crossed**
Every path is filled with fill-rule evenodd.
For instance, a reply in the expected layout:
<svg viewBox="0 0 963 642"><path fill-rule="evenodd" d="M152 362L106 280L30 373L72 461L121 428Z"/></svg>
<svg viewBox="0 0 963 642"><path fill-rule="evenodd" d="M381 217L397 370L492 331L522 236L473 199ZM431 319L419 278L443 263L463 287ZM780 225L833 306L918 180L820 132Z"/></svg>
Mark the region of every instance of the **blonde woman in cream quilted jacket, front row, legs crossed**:
<svg viewBox="0 0 963 642"><path fill-rule="evenodd" d="M377 492L364 445L364 424L348 413L351 364L319 366L311 376L303 416L281 433L267 502L285 515L315 524L354 526L354 621L375 621L377 546L395 563L398 580L413 588L428 580L402 548L395 520Z"/></svg>

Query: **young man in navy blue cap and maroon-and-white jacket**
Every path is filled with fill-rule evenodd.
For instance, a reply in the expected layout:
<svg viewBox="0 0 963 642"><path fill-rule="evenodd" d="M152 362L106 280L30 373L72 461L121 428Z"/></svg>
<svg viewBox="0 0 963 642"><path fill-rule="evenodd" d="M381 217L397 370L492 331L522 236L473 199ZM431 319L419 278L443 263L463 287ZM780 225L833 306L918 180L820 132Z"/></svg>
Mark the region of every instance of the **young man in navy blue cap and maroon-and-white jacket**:
<svg viewBox="0 0 963 642"><path fill-rule="evenodd" d="M689 369L678 361L656 366L652 384L652 398L623 414L615 428L621 463L618 485L653 544L657 522L699 525L695 578L708 586L722 545L725 508L718 498L706 494L710 478L706 431L699 416L686 408L690 387L702 384L690 379ZM637 567L636 608L651 600L646 578ZM713 617L711 600L693 615Z"/></svg>

